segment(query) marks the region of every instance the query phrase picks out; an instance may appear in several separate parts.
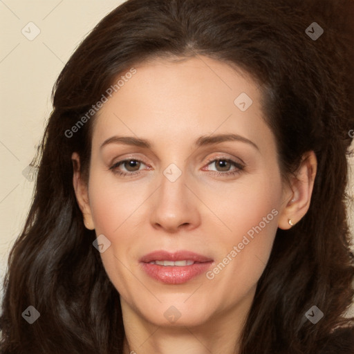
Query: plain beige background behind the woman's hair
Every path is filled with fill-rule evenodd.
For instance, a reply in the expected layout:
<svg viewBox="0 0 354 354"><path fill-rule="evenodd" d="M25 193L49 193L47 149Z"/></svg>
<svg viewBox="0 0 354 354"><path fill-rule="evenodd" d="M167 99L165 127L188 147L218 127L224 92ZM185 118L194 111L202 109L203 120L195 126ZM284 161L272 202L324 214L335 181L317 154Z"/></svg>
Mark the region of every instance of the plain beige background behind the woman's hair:
<svg viewBox="0 0 354 354"><path fill-rule="evenodd" d="M8 252L30 205L34 183L23 171L35 156L51 111L50 93L55 79L84 36L122 2L0 0L1 281ZM27 37L21 32L23 28ZM28 37L35 35L37 28L39 35L30 41ZM349 161L350 194L354 196L354 158ZM353 225L353 205L350 210Z"/></svg>

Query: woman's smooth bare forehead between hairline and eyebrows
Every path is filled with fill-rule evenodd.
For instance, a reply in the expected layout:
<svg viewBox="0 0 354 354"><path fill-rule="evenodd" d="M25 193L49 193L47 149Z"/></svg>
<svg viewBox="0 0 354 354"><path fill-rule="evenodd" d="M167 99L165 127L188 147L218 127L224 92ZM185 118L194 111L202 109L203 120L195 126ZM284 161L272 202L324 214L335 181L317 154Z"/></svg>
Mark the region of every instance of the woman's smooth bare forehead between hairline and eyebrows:
<svg viewBox="0 0 354 354"><path fill-rule="evenodd" d="M93 145L114 133L169 142L235 130L256 138L266 129L259 86L241 69L204 56L134 68L98 112Z"/></svg>

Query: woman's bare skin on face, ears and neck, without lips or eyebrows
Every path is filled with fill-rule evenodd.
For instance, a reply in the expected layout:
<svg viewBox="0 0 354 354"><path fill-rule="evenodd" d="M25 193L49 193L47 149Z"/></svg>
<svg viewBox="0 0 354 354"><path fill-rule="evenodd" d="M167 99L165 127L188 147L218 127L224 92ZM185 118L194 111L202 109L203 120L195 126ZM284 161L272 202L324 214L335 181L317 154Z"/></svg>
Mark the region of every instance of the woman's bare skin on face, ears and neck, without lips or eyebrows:
<svg viewBox="0 0 354 354"><path fill-rule="evenodd" d="M237 353L277 228L290 228L288 219L295 224L308 210L315 154L304 156L297 178L283 183L261 92L241 70L208 57L153 59L136 70L95 120L88 183L79 169L73 176L86 227L111 241L101 257L120 293L124 353ZM252 98L246 111L234 104L240 93ZM201 136L230 133L257 148L237 140L195 145ZM118 135L149 140L151 147L111 142L100 148ZM110 167L126 158L142 163L115 165L113 173ZM80 166L77 153L73 161ZM163 174L171 163L182 171L174 182ZM190 250L214 259L212 270L272 210L272 221L214 279L201 274L165 284L140 267L138 259L153 250ZM164 316L170 306L180 314L176 322Z"/></svg>

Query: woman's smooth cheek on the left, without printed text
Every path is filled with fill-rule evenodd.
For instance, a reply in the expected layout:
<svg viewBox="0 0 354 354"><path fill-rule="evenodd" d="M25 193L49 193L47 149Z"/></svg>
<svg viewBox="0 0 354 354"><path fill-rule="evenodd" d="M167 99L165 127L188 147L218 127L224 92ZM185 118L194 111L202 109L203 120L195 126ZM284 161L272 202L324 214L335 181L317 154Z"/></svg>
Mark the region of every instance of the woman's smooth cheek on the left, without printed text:
<svg viewBox="0 0 354 354"><path fill-rule="evenodd" d="M92 171L88 187L95 233L97 236L104 234L111 242L110 247L100 254L104 268L116 288L124 289L120 285L132 281L125 272L126 267L136 266L131 260L134 245L144 238L140 228L142 220L147 217L142 213L151 192L141 184L129 187L118 184L114 174L99 169Z"/></svg>

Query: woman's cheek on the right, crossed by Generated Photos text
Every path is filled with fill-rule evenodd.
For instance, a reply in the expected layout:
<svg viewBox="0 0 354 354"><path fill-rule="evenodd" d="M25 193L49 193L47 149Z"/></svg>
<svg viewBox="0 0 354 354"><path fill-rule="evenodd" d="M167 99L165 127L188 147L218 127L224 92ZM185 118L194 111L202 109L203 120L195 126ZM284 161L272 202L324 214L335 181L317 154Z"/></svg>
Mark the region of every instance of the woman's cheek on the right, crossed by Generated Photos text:
<svg viewBox="0 0 354 354"><path fill-rule="evenodd" d="M212 247L218 250L215 268L207 279L217 283L220 294L242 297L261 277L277 232L281 201L281 178L263 174L230 189L227 198L214 201L226 232L218 234ZM213 244L214 243L214 244ZM230 286L232 284L232 286Z"/></svg>

